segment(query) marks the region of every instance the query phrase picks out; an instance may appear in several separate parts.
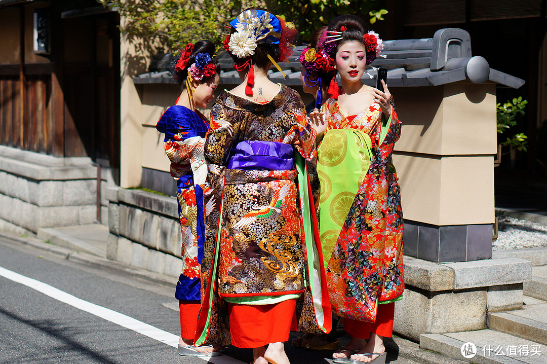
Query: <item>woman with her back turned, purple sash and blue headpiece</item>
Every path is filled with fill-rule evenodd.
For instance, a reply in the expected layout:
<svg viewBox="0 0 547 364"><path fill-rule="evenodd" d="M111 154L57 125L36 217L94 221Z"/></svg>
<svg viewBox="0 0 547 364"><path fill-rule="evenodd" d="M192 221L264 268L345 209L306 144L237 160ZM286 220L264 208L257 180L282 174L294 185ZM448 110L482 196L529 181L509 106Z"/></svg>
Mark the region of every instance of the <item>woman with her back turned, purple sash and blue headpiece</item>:
<svg viewBox="0 0 547 364"><path fill-rule="evenodd" d="M286 60L294 26L256 8L230 26L223 44L243 82L219 95L205 142L211 190L196 344L231 343L252 348L254 364L286 364L292 327L328 332L331 324L315 221L316 135L298 93L266 76Z"/></svg>

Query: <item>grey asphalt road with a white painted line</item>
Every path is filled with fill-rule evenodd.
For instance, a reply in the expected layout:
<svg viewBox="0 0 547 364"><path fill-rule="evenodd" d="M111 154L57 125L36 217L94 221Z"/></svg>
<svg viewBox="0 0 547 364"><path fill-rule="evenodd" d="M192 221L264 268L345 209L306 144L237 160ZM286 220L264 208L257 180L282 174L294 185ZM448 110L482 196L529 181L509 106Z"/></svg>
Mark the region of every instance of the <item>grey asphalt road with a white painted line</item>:
<svg viewBox="0 0 547 364"><path fill-rule="evenodd" d="M75 262L0 237L0 363L205 363L181 357L165 343L171 340L176 345L179 330L173 286L174 280L170 285ZM104 308L114 313L105 314ZM142 327L134 327L143 326L139 322L152 326L145 327L152 338L139 333ZM294 349L288 344L287 353L293 364L331 362L329 351ZM252 360L250 349L230 346L226 354L210 362ZM392 355L390 360L410 363Z"/></svg>

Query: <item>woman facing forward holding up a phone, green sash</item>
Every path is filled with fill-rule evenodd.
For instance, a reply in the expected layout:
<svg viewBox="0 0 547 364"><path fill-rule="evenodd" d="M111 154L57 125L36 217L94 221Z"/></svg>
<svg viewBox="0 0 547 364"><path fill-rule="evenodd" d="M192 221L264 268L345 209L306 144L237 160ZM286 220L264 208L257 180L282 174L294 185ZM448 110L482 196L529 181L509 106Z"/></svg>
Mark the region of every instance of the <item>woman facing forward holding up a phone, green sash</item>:
<svg viewBox="0 0 547 364"><path fill-rule="evenodd" d="M382 92L361 82L383 49L377 34L354 15L335 18L328 34L342 90L333 78L326 123L316 128L327 129L318 160L321 240L331 304L351 336L333 361L383 363L383 337L392 336L394 302L404 290L403 212L392 163L401 123L387 85Z"/></svg>

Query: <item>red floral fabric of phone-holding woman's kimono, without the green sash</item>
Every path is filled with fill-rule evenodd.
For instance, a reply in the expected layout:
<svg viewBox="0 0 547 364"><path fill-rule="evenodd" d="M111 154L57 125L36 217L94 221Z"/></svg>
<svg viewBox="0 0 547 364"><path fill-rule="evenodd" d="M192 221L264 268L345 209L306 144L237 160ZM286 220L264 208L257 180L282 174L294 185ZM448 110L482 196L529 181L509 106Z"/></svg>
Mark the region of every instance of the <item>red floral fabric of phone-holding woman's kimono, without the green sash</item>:
<svg viewBox="0 0 547 364"><path fill-rule="evenodd" d="M327 284L335 313L374 321L376 304L398 298L404 291L403 211L392 163L401 122L393 107L392 121L382 141L382 112L377 103L353 120L346 118L333 99L325 102L322 111L328 130L357 129L372 142L369 170L351 202L334 251L324 254L330 255Z"/></svg>

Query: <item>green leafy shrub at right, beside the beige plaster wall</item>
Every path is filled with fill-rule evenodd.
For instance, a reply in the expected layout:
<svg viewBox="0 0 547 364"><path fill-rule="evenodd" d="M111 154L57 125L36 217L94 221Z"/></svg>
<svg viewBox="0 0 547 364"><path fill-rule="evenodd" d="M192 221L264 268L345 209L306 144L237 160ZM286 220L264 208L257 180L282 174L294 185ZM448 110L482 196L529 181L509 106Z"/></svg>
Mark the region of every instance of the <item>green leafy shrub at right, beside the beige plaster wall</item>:
<svg viewBox="0 0 547 364"><path fill-rule="evenodd" d="M519 96L518 98L513 99L512 102L509 100L503 105L501 103L496 105L499 134L503 134L505 131L508 131L511 126L515 126L517 124L516 118L519 117L519 115L520 117L524 115L524 108L527 103L528 101L522 100L522 97ZM505 147L514 147L518 151L526 152L527 138L528 137L524 135L524 133L520 132L514 136L507 137L507 140L501 142L501 145Z"/></svg>

